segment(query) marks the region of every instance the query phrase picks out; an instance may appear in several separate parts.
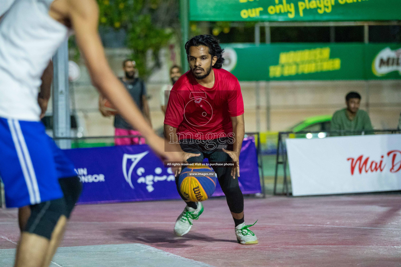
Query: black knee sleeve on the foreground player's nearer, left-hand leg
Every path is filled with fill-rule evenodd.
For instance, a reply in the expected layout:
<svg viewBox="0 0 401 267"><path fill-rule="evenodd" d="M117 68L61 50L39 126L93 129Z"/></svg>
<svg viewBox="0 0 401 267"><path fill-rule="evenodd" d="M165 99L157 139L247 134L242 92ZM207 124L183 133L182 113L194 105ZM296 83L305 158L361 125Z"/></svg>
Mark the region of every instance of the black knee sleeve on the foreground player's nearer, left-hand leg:
<svg viewBox="0 0 401 267"><path fill-rule="evenodd" d="M25 232L51 239L53 230L65 213L64 198L30 205L30 217L26 223Z"/></svg>

